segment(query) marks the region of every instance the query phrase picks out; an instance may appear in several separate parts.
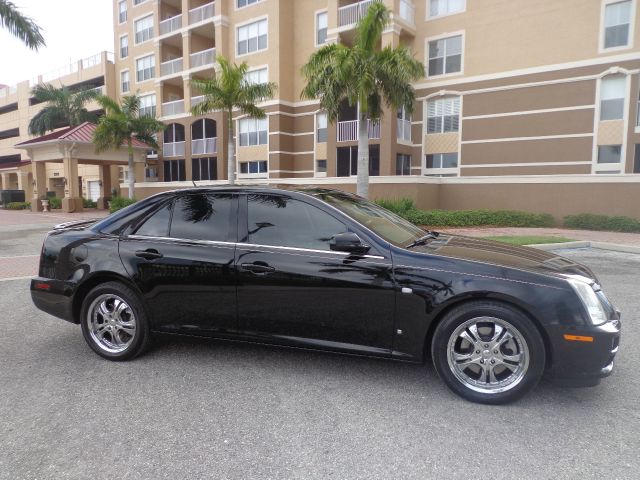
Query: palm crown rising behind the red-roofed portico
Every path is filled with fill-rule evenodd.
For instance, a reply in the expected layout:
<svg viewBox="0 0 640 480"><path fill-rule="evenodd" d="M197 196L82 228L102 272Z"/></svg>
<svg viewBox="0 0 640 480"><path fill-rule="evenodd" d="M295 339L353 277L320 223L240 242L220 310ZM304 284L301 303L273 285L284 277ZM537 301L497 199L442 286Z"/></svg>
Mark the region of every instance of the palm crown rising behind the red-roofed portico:
<svg viewBox="0 0 640 480"><path fill-rule="evenodd" d="M31 95L39 102L48 103L29 122L31 135L44 135L62 126L74 127L97 118L84 107L100 95L95 89L72 90L69 87L40 84L33 87Z"/></svg>

